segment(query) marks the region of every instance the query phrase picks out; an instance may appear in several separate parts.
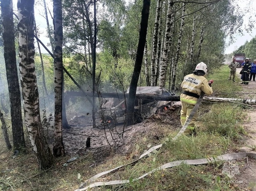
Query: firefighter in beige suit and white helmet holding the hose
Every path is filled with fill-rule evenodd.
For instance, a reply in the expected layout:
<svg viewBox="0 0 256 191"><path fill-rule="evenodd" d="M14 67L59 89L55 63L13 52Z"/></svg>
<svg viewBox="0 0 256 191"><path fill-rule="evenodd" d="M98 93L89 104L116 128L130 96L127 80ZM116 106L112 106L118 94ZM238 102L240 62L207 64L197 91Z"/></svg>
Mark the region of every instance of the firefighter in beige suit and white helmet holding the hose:
<svg viewBox="0 0 256 191"><path fill-rule="evenodd" d="M207 96L212 94L211 84L213 80L210 80L209 83L205 78L207 72L207 66L205 63L200 62L193 73L184 77L184 80L181 84L183 92L181 94L181 124L182 126L186 122L189 114L197 103L201 91L203 91ZM188 127L184 131L186 135L195 134L195 121L197 118L197 112L195 113L193 119L189 123Z"/></svg>

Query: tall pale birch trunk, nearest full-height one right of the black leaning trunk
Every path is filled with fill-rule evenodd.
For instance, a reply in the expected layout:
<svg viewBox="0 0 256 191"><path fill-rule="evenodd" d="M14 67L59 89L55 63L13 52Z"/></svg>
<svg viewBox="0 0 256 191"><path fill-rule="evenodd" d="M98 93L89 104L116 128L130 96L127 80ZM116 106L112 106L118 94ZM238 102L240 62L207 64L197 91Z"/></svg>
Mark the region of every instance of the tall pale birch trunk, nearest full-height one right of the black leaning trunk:
<svg viewBox="0 0 256 191"><path fill-rule="evenodd" d="M153 48L152 48L152 56L151 56L151 86L155 86L155 70L156 70L156 57L157 57L157 46L158 46L158 38L161 38L160 35L160 27L159 27L159 20L161 16L161 3L162 0L158 0L157 7L156 7L156 14L155 14L155 28L154 28L154 35L153 35ZM160 30L159 30L160 29ZM158 32L159 31L159 32Z"/></svg>

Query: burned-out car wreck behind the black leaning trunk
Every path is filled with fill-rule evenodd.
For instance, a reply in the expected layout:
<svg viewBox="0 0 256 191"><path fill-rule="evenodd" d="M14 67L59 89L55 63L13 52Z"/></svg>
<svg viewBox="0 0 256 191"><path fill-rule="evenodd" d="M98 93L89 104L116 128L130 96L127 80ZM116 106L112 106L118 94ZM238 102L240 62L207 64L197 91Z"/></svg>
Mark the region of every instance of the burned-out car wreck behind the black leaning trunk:
<svg viewBox="0 0 256 191"><path fill-rule="evenodd" d="M126 92L129 93L129 88ZM142 86L137 87L136 95L156 95L156 96L175 96L164 87L158 86ZM145 96L146 97L146 96ZM126 116L126 104L128 96L125 99L104 98L98 114L101 117L101 123L105 125L115 125L124 123ZM135 123L141 122L149 118L155 113L161 114L173 104L173 101L154 101L143 98L135 99L134 119Z"/></svg>

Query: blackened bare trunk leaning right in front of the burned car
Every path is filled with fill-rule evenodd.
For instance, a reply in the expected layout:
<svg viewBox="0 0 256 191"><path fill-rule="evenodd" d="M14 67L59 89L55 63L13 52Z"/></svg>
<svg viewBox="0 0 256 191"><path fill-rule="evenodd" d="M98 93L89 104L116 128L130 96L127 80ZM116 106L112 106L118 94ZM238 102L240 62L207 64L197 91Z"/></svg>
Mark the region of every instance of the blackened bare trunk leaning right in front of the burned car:
<svg viewBox="0 0 256 191"><path fill-rule="evenodd" d="M125 126L130 126L133 124L135 95L137 90L137 84L139 81L142 60L143 60L143 51L145 48L146 37L147 37L149 9L150 9L150 0L143 0L143 7L141 11L139 42L137 47L135 66L133 69L131 83L130 83Z"/></svg>

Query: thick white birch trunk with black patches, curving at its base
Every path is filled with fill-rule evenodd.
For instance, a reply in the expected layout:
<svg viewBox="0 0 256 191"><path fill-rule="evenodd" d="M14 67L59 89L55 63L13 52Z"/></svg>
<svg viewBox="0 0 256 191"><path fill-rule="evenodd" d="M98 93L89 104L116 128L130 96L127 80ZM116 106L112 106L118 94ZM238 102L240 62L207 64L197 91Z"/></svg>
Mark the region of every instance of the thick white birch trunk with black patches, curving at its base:
<svg viewBox="0 0 256 191"><path fill-rule="evenodd" d="M18 31L21 86L28 135L40 168L50 168L53 154L48 147L40 120L39 95L35 72L34 0L18 0Z"/></svg>

